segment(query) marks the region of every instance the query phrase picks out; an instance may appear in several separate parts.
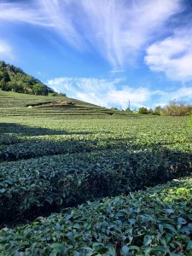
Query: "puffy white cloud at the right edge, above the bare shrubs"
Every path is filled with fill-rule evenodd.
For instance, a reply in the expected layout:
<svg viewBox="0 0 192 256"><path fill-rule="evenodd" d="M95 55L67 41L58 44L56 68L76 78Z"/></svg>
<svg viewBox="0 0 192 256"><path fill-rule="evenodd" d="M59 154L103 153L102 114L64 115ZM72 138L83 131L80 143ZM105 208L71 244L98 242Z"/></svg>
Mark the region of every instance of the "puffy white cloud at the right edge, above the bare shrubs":
<svg viewBox="0 0 192 256"><path fill-rule="evenodd" d="M192 30L183 28L172 37L150 45L145 62L152 71L176 81L192 80Z"/></svg>

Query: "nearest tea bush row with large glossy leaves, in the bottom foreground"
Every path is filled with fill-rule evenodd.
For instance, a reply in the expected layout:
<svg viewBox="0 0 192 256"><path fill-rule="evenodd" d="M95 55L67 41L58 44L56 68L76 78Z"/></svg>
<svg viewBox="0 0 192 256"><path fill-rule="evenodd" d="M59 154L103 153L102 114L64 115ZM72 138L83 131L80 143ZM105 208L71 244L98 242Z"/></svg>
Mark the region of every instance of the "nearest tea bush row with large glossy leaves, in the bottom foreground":
<svg viewBox="0 0 192 256"><path fill-rule="evenodd" d="M2 255L177 255L192 251L192 178L66 209L0 231Z"/></svg>

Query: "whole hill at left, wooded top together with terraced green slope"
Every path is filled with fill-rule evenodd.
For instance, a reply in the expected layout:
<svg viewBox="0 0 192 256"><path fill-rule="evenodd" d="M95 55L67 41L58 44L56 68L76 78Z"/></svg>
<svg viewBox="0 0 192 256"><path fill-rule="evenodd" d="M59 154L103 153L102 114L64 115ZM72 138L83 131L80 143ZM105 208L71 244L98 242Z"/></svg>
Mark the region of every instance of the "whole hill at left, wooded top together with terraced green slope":
<svg viewBox="0 0 192 256"><path fill-rule="evenodd" d="M0 116L73 118L127 116L56 93L20 68L0 61Z"/></svg>

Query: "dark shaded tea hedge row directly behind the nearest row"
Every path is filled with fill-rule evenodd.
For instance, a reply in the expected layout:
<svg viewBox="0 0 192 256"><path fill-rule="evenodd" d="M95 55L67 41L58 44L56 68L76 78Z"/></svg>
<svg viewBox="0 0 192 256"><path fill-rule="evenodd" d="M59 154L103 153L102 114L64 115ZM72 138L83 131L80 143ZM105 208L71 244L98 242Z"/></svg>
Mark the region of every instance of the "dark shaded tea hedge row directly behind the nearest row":
<svg viewBox="0 0 192 256"><path fill-rule="evenodd" d="M192 172L190 154L120 149L21 160L0 168L2 219L23 218L34 207L39 212L127 194Z"/></svg>

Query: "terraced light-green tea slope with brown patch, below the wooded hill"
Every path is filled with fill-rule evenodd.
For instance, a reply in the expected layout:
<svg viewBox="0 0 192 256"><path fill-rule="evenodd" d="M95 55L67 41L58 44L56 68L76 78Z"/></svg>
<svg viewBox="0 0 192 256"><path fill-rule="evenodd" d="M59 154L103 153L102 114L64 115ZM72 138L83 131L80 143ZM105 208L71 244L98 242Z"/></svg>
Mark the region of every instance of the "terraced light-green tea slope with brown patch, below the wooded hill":
<svg viewBox="0 0 192 256"><path fill-rule="evenodd" d="M102 108L67 96L34 96L0 90L0 117L3 116L71 119L78 117L127 117L131 114Z"/></svg>

